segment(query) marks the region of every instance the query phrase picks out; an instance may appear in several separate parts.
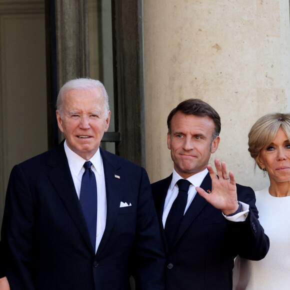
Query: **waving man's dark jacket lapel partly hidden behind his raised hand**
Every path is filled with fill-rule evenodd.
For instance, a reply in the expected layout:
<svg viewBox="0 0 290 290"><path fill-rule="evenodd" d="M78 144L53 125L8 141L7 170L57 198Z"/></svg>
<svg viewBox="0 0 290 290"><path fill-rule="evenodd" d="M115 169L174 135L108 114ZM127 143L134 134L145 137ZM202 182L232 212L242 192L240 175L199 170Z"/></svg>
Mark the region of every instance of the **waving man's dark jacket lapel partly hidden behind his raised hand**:
<svg viewBox="0 0 290 290"><path fill-rule="evenodd" d="M211 178L209 176L209 173L207 173L201 182L200 187L207 191L208 189L211 190ZM204 206L207 204L207 201L201 197L198 192L196 192L196 195L194 196L191 204L189 205L188 209L186 210L181 223L179 225L179 228L176 233L175 243L181 238L183 233L187 230L187 228L190 226L190 224L194 221L194 219L198 216L198 214L202 211Z"/></svg>

